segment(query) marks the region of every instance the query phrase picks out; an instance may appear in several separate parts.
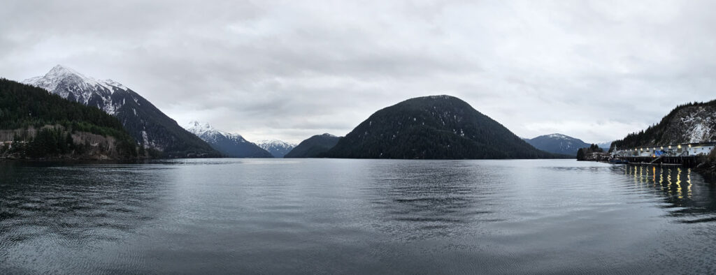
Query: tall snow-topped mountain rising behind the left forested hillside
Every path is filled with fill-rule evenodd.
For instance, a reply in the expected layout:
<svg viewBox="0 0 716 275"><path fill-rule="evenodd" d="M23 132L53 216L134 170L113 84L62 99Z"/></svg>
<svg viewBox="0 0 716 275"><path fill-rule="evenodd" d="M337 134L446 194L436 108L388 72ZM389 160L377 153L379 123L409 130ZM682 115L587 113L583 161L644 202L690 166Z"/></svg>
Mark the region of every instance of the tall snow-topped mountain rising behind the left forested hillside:
<svg viewBox="0 0 716 275"><path fill-rule="evenodd" d="M57 65L44 76L24 83L116 116L140 146L160 151L165 157L221 156L135 91L111 79L92 79Z"/></svg>

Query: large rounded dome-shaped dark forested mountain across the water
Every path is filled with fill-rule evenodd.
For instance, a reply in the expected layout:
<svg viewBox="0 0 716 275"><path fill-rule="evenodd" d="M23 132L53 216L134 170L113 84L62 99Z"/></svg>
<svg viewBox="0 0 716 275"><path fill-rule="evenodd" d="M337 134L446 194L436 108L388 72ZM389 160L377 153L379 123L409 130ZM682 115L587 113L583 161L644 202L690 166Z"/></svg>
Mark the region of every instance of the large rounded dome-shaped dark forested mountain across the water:
<svg viewBox="0 0 716 275"><path fill-rule="evenodd" d="M372 114L323 154L369 159L536 159L510 130L453 96L408 99Z"/></svg>

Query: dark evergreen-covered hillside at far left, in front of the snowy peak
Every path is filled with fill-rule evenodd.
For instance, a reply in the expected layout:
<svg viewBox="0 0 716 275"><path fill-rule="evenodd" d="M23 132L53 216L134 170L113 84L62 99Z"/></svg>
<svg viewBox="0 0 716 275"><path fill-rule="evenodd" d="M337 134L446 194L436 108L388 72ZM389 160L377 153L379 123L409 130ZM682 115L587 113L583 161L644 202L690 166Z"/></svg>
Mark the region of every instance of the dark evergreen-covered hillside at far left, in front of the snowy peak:
<svg viewBox="0 0 716 275"><path fill-rule="evenodd" d="M6 158L137 157L134 139L117 118L7 79L0 79L0 142Z"/></svg>

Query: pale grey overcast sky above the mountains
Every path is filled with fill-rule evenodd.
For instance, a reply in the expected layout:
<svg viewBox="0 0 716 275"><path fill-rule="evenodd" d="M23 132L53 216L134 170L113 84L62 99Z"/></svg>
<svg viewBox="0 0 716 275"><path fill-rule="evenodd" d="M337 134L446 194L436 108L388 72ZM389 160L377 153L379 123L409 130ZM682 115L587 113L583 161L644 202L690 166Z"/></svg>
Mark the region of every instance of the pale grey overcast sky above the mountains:
<svg viewBox="0 0 716 275"><path fill-rule="evenodd" d="M3 1L0 77L114 79L180 124L347 134L450 94L518 136L620 139L716 99L716 1Z"/></svg>

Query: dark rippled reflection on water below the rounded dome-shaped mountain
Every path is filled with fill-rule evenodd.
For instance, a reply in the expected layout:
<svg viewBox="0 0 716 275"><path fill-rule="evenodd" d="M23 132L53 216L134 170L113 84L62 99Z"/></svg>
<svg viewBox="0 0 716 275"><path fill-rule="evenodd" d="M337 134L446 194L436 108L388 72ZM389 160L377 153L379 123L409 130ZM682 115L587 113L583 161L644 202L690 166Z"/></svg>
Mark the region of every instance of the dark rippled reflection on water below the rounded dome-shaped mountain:
<svg viewBox="0 0 716 275"><path fill-rule="evenodd" d="M377 228L396 238L450 236L495 220L489 208L494 186L485 184L497 180L493 173L455 161L395 168L372 174L367 191L375 195L371 201L379 213Z"/></svg>

